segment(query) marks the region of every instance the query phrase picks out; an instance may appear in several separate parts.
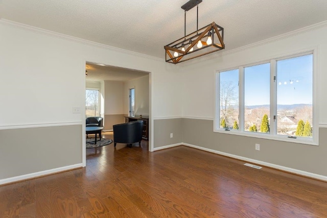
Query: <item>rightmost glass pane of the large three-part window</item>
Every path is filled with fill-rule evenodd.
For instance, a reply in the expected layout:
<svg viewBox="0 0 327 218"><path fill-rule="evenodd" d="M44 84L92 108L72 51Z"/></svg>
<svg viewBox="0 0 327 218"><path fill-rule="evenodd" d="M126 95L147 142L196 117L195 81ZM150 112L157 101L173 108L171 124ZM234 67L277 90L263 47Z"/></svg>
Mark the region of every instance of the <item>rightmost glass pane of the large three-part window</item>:
<svg viewBox="0 0 327 218"><path fill-rule="evenodd" d="M277 61L277 134L312 138L313 55Z"/></svg>

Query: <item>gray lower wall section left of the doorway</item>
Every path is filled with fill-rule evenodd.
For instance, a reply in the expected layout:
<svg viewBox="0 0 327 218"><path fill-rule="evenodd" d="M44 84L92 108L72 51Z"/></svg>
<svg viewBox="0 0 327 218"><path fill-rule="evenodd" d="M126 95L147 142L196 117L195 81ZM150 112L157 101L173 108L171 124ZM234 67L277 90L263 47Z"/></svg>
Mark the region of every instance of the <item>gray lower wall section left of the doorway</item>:
<svg viewBox="0 0 327 218"><path fill-rule="evenodd" d="M82 125L0 130L0 180L82 163Z"/></svg>

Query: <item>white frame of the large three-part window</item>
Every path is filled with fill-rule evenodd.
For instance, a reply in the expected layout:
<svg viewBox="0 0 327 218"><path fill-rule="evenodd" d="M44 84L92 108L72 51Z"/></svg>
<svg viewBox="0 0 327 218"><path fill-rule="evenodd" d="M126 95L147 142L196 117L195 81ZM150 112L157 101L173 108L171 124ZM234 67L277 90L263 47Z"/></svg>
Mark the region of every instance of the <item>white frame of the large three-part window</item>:
<svg viewBox="0 0 327 218"><path fill-rule="evenodd" d="M318 80L318 68L317 68L317 48L308 49L305 51L299 51L296 53L285 54L279 57L270 58L268 60L262 60L255 63L243 64L242 66L232 67L223 70L215 71L215 108L214 108L214 132L239 135L246 137L270 139L277 141L293 142L300 144L319 145L319 105L318 105L318 94L319 94L319 80ZM288 138L286 135L277 135L277 125L274 121L274 115L277 115L277 80L274 81L274 76L277 77L277 61L290 59L300 56L306 56L312 54L313 56L313 96L312 96L312 138L297 137L296 139ZM256 66L263 63L270 63L270 133L262 134L256 132L245 132L244 131L244 69L246 67ZM228 130L220 128L220 72L226 72L230 70L239 69L239 129Z"/></svg>

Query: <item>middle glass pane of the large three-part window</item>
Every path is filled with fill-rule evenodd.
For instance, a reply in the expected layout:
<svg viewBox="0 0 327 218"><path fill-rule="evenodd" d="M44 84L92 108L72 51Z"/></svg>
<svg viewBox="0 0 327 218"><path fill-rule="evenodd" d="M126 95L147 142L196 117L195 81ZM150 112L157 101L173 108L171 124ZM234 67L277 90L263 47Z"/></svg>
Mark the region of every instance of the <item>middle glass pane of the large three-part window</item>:
<svg viewBox="0 0 327 218"><path fill-rule="evenodd" d="M269 133L270 63L244 68L244 130Z"/></svg>

